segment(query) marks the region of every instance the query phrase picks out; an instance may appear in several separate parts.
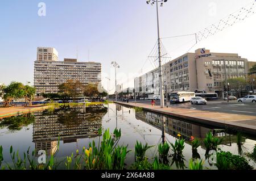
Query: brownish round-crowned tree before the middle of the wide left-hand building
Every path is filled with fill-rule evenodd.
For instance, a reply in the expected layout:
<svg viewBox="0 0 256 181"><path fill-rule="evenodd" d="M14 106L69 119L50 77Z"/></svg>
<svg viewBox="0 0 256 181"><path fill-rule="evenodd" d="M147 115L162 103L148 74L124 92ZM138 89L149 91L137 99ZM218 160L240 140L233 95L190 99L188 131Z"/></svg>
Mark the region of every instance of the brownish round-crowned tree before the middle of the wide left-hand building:
<svg viewBox="0 0 256 181"><path fill-rule="evenodd" d="M76 97L82 94L83 85L80 81L68 80L65 83L59 85L60 94L69 95L72 97L73 102L76 101Z"/></svg>

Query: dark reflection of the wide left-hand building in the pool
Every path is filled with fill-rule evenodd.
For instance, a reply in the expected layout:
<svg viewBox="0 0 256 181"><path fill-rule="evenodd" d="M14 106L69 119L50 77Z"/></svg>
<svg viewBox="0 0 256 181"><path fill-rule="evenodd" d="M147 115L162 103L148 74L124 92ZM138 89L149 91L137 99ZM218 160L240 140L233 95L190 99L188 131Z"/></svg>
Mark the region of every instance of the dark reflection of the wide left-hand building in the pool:
<svg viewBox="0 0 256 181"><path fill-rule="evenodd" d="M57 151L57 142L77 142L79 138L93 138L98 136L102 117L108 108L101 110L88 110L83 108L69 108L57 110L53 113L35 113L33 124L33 142L35 149L46 150L47 154Z"/></svg>

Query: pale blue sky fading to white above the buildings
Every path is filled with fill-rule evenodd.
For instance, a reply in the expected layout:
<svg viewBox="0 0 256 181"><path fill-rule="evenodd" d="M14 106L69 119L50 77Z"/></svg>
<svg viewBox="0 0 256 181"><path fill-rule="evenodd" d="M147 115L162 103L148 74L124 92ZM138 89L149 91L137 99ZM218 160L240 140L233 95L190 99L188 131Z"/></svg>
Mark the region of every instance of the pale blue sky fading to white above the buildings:
<svg viewBox="0 0 256 181"><path fill-rule="evenodd" d="M161 37L194 33L218 22L252 0L169 0L160 8ZM38 3L46 3L46 16L38 16ZM112 79L110 62L121 68L124 87L133 73L145 73L153 67L150 62L142 69L156 42L155 6L146 0L10 0L0 6L0 82L33 82L36 47L55 47L59 60L76 58L102 63L102 77ZM256 15L201 41L197 48L212 52L238 53L256 61ZM192 39L191 39L192 38ZM193 37L166 39L163 44L172 58L187 52ZM181 47L181 45L183 45ZM142 70L141 70L142 69ZM106 87L106 79L103 79Z"/></svg>

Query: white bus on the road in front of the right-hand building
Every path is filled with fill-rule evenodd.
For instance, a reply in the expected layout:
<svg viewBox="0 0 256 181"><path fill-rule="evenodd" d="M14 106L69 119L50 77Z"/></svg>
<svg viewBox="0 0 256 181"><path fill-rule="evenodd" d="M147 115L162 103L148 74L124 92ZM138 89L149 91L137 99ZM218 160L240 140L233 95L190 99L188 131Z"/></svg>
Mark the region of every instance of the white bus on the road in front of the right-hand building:
<svg viewBox="0 0 256 181"><path fill-rule="evenodd" d="M195 98L195 92L175 92L170 94L170 103L189 102L191 98Z"/></svg>

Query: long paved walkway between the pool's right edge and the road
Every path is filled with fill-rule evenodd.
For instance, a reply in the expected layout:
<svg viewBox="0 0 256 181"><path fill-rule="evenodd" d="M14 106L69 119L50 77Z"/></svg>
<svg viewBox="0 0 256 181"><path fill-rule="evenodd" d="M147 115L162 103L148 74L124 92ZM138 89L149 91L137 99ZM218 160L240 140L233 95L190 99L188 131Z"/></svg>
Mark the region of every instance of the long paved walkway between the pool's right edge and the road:
<svg viewBox="0 0 256 181"><path fill-rule="evenodd" d="M160 106L152 107L143 103L123 103L115 102L123 106L141 107L143 110L172 116L176 119L192 121L193 123L207 124L222 128L236 129L256 136L256 116L239 115L233 113L210 112L200 110L190 110L188 108Z"/></svg>

